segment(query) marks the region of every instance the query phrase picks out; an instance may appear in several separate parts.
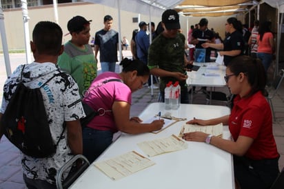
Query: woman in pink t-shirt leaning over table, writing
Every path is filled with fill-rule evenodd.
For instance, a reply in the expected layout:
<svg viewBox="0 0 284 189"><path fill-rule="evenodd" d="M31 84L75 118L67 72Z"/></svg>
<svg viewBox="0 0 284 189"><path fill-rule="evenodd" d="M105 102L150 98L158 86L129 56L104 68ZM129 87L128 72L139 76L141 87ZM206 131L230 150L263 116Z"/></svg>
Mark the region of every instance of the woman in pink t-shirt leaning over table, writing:
<svg viewBox="0 0 284 189"><path fill-rule="evenodd" d="M90 162L97 159L105 148L110 146L114 132L120 130L138 134L160 130L163 127L163 119L152 123L141 123L139 117L130 119L131 94L148 81L150 70L139 60L123 59L121 65L123 70L119 74L99 74L83 98L85 103L100 114L83 129L83 155ZM103 83L106 80L108 82Z"/></svg>

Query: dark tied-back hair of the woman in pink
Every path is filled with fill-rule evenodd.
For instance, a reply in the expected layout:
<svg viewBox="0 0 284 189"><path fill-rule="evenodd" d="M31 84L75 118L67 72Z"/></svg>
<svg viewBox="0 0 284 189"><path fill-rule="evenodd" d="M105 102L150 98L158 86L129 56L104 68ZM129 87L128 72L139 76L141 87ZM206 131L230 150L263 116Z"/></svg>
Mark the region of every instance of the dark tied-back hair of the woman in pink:
<svg viewBox="0 0 284 189"><path fill-rule="evenodd" d="M137 76L150 75L150 70L145 63L139 60L125 58L119 63L122 66L122 72L137 71Z"/></svg>

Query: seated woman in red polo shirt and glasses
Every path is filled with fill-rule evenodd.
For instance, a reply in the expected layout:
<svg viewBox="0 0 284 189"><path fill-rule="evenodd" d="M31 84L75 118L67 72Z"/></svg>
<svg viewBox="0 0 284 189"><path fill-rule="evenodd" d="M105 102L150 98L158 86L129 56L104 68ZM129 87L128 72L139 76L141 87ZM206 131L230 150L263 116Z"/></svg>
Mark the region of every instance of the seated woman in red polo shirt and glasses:
<svg viewBox="0 0 284 189"><path fill-rule="evenodd" d="M193 119L190 124L228 125L232 140L203 132L188 132L186 141L206 142L234 155L234 175L242 189L270 188L278 175L276 143L272 133L272 112L263 92L266 76L259 59L234 58L224 77L232 94L236 94L230 115L216 119Z"/></svg>

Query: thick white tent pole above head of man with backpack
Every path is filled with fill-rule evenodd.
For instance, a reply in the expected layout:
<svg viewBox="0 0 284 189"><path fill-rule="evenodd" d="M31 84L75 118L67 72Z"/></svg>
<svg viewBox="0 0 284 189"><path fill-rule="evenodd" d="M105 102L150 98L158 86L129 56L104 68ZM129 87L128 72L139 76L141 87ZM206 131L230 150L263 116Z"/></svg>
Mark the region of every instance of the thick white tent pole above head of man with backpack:
<svg viewBox="0 0 284 189"><path fill-rule="evenodd" d="M26 46L26 61L27 63L32 62L31 53L30 53L30 31L28 28L28 3L26 0L21 0L21 8L23 13L23 31L25 33L25 46Z"/></svg>

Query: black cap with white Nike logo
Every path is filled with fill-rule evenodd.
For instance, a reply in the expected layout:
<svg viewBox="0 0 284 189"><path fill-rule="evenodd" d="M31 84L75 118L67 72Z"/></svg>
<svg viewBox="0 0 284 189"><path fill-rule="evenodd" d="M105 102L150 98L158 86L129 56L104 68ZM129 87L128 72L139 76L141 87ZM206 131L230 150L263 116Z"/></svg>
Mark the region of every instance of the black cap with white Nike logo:
<svg viewBox="0 0 284 189"><path fill-rule="evenodd" d="M176 10L165 10L162 14L162 22L168 30L181 28L181 24L179 23L179 14Z"/></svg>

